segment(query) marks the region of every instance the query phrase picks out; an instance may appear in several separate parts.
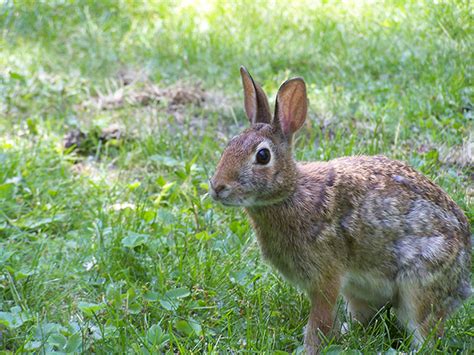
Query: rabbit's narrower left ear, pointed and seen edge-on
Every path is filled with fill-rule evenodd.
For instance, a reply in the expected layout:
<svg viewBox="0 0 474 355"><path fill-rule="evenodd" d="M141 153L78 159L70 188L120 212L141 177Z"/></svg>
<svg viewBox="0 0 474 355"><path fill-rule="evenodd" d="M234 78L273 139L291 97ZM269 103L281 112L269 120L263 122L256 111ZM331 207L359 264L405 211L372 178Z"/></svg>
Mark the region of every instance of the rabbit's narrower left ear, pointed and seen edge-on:
<svg viewBox="0 0 474 355"><path fill-rule="evenodd" d="M245 113L250 124L271 123L270 106L268 106L268 99L262 88L252 79L243 66L240 67L240 75L244 87Z"/></svg>

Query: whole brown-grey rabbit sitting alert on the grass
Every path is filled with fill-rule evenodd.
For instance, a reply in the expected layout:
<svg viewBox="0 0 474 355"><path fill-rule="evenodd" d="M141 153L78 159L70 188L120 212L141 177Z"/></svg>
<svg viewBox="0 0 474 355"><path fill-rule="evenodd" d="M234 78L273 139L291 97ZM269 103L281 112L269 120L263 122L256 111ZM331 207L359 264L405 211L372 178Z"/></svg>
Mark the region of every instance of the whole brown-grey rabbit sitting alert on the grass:
<svg viewBox="0 0 474 355"><path fill-rule="evenodd" d="M301 78L268 100L240 69L251 127L234 137L210 180L211 196L245 208L263 256L305 290L308 353L334 325L342 294L349 315L367 322L393 306L419 344L471 293L469 223L437 185L383 156L296 162L293 134L306 118ZM435 328L436 327L436 328Z"/></svg>

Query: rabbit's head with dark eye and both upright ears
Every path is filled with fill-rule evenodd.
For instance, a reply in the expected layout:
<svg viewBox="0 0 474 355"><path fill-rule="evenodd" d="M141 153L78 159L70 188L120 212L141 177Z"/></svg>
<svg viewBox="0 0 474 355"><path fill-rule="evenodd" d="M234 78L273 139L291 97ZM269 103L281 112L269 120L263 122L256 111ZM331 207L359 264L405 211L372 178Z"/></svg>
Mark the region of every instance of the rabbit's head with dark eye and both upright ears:
<svg viewBox="0 0 474 355"><path fill-rule="evenodd" d="M301 78L284 82L272 118L262 88L244 67L240 74L251 127L228 143L210 180L210 194L229 206L269 205L285 199L295 188L291 142L306 118L306 86Z"/></svg>

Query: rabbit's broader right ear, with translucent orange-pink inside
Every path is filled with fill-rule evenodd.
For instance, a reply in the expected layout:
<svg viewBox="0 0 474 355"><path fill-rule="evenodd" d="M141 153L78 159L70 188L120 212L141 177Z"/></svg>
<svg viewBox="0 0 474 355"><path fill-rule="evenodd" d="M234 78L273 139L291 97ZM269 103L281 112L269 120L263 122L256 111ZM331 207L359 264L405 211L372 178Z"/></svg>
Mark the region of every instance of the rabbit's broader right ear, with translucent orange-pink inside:
<svg viewBox="0 0 474 355"><path fill-rule="evenodd" d="M291 140L292 135L301 128L308 112L306 85L302 78L285 81L278 90L275 103L274 125Z"/></svg>

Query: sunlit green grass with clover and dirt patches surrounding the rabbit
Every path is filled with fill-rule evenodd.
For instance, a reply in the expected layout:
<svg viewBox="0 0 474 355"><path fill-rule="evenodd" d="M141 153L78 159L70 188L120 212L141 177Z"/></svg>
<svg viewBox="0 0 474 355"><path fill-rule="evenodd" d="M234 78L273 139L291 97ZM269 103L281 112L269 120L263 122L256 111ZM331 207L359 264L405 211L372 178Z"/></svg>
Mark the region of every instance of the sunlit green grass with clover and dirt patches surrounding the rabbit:
<svg viewBox="0 0 474 355"><path fill-rule="evenodd" d="M472 224L472 13L468 1L4 1L0 348L301 351L304 295L262 263L245 216L206 197L246 126L239 65L270 96L305 78L298 159L406 160ZM385 312L325 350L407 352L395 323ZM446 328L423 351L472 351L472 300Z"/></svg>

